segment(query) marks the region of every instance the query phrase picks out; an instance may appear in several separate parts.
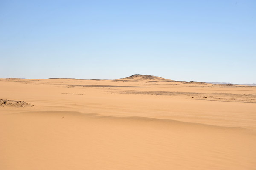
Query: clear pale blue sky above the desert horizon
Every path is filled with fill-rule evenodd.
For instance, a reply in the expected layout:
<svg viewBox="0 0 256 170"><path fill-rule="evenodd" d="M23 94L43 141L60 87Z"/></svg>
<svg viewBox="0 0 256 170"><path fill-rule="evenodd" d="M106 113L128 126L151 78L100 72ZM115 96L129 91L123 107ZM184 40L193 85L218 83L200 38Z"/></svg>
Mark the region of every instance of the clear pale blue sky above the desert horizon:
<svg viewBox="0 0 256 170"><path fill-rule="evenodd" d="M255 0L0 0L0 78L256 83Z"/></svg>

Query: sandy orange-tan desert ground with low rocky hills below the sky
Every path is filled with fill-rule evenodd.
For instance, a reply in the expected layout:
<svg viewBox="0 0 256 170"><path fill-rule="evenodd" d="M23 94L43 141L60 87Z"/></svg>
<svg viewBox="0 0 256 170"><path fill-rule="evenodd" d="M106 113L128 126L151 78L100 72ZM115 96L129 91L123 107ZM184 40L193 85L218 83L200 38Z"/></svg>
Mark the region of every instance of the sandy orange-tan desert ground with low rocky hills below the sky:
<svg viewBox="0 0 256 170"><path fill-rule="evenodd" d="M0 170L256 170L256 87L0 79Z"/></svg>

